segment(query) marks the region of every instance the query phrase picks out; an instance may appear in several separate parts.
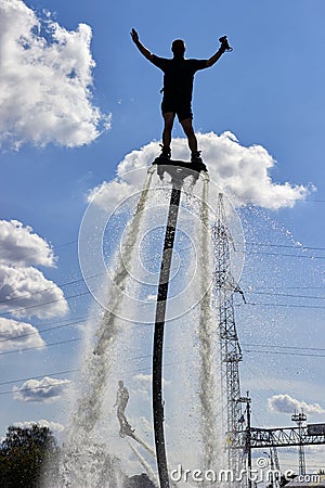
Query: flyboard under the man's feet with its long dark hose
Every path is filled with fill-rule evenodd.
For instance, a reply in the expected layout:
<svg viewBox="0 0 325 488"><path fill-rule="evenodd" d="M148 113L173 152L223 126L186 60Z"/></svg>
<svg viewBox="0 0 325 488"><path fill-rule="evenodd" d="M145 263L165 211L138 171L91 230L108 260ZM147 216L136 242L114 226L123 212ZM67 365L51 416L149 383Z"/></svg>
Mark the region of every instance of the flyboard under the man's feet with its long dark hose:
<svg viewBox="0 0 325 488"><path fill-rule="evenodd" d="M157 165L157 175L161 180L164 179L165 172L167 172L171 177L171 195L166 224L164 251L161 256L153 350L153 416L156 458L160 488L169 488L170 483L165 447L165 414L162 399L162 352L169 275L181 200L181 190L184 179L191 176L194 182L196 182L199 178L200 172L206 174L207 177L207 168L204 163L194 164L183 160L166 162L166 159L161 159L159 157L154 160L153 165Z"/></svg>

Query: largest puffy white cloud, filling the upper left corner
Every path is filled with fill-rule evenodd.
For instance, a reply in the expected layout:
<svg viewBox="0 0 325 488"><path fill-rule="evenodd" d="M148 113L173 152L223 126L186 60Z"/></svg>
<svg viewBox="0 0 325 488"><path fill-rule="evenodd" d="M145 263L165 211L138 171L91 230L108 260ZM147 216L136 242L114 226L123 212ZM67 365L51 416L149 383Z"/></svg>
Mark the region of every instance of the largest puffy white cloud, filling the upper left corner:
<svg viewBox="0 0 325 488"><path fill-rule="evenodd" d="M109 127L92 105L91 38L86 24L68 31L22 0L0 0L0 146L79 146Z"/></svg>

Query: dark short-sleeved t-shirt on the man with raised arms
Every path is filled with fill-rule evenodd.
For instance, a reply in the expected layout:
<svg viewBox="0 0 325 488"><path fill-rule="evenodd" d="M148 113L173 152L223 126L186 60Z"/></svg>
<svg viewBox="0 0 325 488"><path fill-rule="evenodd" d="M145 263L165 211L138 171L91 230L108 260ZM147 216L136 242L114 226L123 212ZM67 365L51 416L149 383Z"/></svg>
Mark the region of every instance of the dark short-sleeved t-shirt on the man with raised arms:
<svg viewBox="0 0 325 488"><path fill-rule="evenodd" d="M207 68L207 60L166 59L154 54L152 63L164 72L164 95L192 100L194 75Z"/></svg>

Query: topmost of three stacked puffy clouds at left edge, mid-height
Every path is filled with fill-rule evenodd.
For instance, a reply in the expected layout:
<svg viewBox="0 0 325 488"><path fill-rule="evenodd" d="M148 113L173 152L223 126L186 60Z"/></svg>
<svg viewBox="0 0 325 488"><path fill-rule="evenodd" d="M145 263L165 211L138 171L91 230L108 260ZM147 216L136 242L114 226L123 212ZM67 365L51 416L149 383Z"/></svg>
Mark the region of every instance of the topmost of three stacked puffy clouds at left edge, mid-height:
<svg viewBox="0 0 325 488"><path fill-rule="evenodd" d="M54 266L50 245L31 227L17 220L0 220L0 262L29 266Z"/></svg>

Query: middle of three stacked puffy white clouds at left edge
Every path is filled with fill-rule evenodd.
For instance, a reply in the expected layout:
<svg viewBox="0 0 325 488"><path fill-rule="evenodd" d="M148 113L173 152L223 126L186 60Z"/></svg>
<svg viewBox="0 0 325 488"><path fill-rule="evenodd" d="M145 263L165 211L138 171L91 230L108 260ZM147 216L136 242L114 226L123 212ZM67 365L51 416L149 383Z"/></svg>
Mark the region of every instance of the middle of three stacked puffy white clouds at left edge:
<svg viewBox="0 0 325 488"><path fill-rule="evenodd" d="M0 310L44 319L66 313L68 306L63 291L38 269L0 265Z"/></svg>

